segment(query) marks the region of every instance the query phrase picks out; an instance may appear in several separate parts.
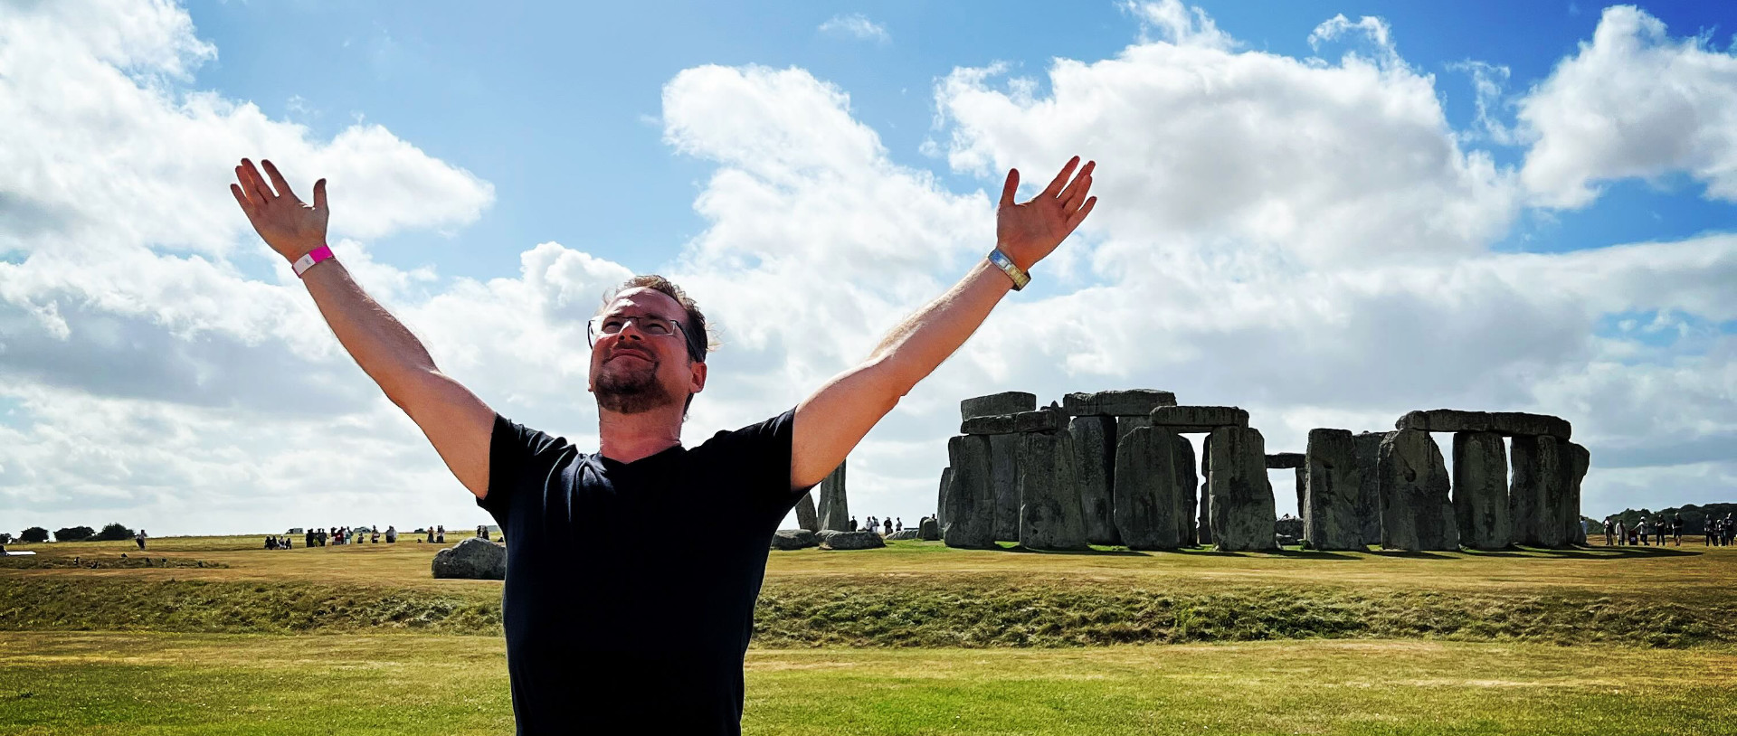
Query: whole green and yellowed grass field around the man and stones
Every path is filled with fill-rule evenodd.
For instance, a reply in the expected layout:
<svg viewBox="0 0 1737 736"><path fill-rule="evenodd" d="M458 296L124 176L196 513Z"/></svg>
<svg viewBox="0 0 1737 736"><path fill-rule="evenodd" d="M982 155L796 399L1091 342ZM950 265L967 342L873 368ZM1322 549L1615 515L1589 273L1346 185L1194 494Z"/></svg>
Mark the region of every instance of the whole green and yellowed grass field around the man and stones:
<svg viewBox="0 0 1737 736"><path fill-rule="evenodd" d="M499 582L433 580L426 543L259 542L151 540L151 568L9 547L40 554L0 559L0 733L511 731ZM1734 583L1737 550L1699 540L773 552L743 727L1737 733Z"/></svg>

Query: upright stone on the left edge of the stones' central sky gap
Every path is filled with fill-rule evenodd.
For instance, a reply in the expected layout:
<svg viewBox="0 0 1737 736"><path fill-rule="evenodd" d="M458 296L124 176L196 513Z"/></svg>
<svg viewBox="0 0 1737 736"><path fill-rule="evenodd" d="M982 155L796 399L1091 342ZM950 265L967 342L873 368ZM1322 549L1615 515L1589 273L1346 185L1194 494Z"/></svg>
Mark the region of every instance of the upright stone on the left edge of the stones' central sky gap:
<svg viewBox="0 0 1737 736"><path fill-rule="evenodd" d="M1266 439L1259 429L1218 427L1207 455L1212 490L1212 542L1221 552L1277 550L1278 512L1266 481Z"/></svg>

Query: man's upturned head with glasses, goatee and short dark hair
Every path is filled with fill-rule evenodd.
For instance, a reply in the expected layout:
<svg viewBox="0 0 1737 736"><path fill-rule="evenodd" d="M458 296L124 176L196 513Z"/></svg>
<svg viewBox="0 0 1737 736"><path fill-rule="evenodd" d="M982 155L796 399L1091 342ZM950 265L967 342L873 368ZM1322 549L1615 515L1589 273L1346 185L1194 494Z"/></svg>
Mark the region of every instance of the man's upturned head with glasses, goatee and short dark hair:
<svg viewBox="0 0 1737 736"><path fill-rule="evenodd" d="M646 318L679 325L658 335ZM591 392L598 406L617 413L641 413L688 401L705 387L705 363L688 358L688 312L664 292L622 292L599 314L591 347ZM613 332L613 333L610 333Z"/></svg>

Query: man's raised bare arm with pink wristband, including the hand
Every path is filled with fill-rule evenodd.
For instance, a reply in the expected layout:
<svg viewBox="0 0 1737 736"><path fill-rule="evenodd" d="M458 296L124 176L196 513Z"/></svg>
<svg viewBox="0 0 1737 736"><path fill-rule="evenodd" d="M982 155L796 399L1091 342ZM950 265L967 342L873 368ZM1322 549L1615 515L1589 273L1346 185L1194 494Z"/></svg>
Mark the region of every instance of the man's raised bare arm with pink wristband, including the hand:
<svg viewBox="0 0 1737 736"><path fill-rule="evenodd" d="M259 175L254 161L234 167L240 184L229 184L247 220L278 255L295 262L325 245L325 179L314 182L314 203L306 205L271 161L261 161L271 184ZM276 191L273 191L276 187ZM337 260L323 260L302 274L307 293L337 342L349 351L363 373L393 399L422 434L464 488L478 498L488 495L488 441L495 430L495 411L469 389L452 380L429 358L422 342L368 297Z"/></svg>

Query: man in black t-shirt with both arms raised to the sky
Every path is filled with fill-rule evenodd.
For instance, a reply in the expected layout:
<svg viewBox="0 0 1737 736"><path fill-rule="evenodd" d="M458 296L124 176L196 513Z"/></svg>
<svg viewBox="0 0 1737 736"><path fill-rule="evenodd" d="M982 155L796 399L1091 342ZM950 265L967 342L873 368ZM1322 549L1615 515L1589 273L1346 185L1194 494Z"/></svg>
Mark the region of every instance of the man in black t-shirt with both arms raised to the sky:
<svg viewBox="0 0 1737 736"><path fill-rule="evenodd" d="M1096 205L1093 161L1075 156L1025 203L1009 170L995 246L957 285L796 408L695 448L681 446L681 424L705 389L705 316L669 279L632 278L591 321L599 448L585 453L441 373L332 259L325 179L307 205L262 163L264 175L241 160L229 186L254 229L509 540L502 618L521 734L740 733L742 663L778 522ZM691 519L724 522L703 547L643 535Z"/></svg>

